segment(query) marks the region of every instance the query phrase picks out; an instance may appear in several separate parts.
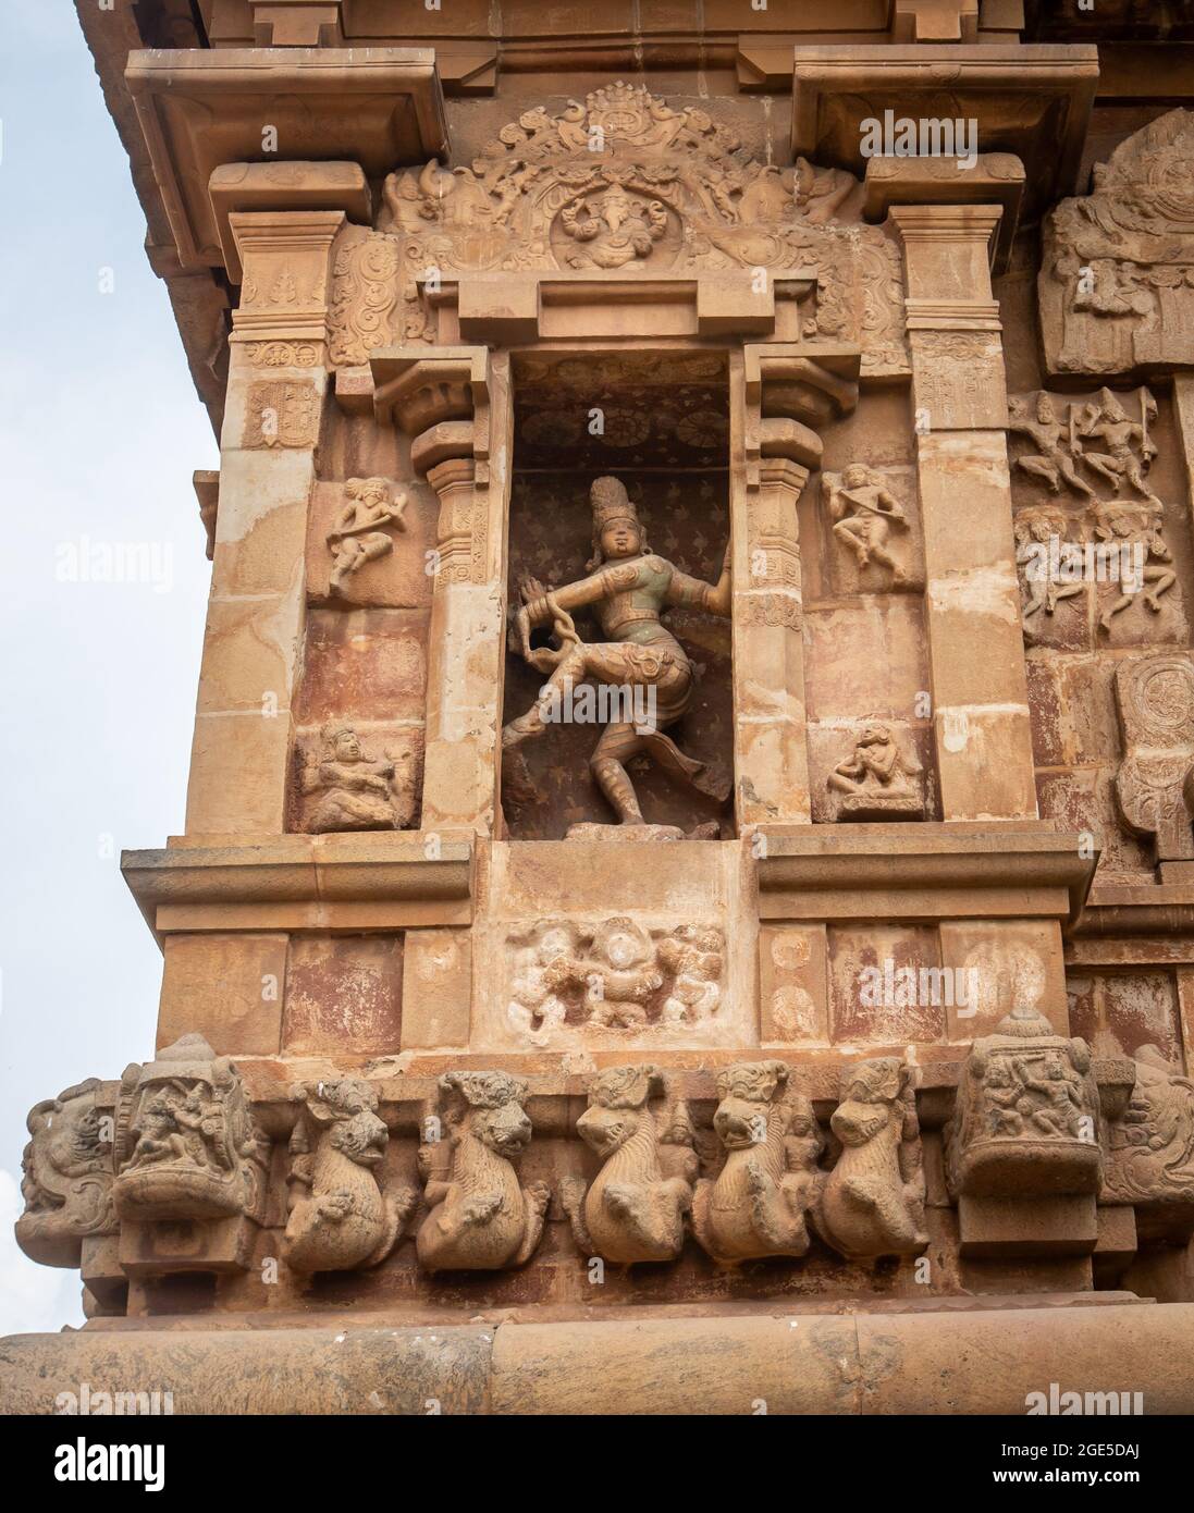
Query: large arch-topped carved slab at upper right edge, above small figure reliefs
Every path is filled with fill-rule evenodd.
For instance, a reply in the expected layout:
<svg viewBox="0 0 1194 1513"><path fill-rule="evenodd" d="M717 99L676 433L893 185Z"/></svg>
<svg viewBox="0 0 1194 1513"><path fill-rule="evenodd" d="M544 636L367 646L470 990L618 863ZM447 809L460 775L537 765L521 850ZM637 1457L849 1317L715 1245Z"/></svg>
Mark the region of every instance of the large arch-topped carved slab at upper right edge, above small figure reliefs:
<svg viewBox="0 0 1194 1513"><path fill-rule="evenodd" d="M1049 374L1194 366L1194 110L1170 110L1094 166L1044 222Z"/></svg>

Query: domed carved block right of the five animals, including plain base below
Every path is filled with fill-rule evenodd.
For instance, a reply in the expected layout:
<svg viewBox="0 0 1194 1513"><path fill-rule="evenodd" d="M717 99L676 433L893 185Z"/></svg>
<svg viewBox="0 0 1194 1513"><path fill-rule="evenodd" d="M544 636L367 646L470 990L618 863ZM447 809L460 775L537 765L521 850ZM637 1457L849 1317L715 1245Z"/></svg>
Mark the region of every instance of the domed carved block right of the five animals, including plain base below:
<svg viewBox="0 0 1194 1513"><path fill-rule="evenodd" d="M946 1126L961 1254L1085 1256L1103 1174L1099 1086L1084 1039L1014 1009L965 1059Z"/></svg>

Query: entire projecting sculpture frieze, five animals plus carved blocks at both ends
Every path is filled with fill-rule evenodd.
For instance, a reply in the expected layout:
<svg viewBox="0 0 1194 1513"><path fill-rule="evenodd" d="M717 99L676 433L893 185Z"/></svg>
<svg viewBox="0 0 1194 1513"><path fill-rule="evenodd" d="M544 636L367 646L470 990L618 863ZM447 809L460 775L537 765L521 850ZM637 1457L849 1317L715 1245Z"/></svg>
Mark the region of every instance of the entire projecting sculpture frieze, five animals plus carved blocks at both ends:
<svg viewBox="0 0 1194 1513"><path fill-rule="evenodd" d="M1096 1201L1143 1207L1153 1229L1161 1212L1194 1213L1194 1082L1146 1052L1114 1064L1105 1103L1090 1047L1037 1009L976 1039L943 1127L962 1232L984 1204L1011 1200L1026 1204L1020 1239L1032 1244L1038 1197L1081 1198L1091 1224ZM445 1073L422 1126L419 1191L384 1174L374 1083L295 1086L281 1257L301 1275L374 1266L422 1213L424 1271L524 1265L552 1203L546 1183L519 1176L527 1097L505 1071ZM32 1259L79 1266L85 1247L120 1235L121 1268L127 1256L169 1269L183 1224L210 1226L221 1254L251 1265L254 1235L271 1224L271 1139L236 1067L201 1036L127 1068L118 1089L91 1079L39 1103L29 1130L17 1239ZM893 1056L847 1065L829 1132L779 1059L719 1073L711 1129L695 1126L658 1067L607 1067L577 1120L596 1167L589 1180L560 1177L554 1197L580 1251L613 1265L673 1260L690 1233L725 1266L804 1256L813 1233L849 1260L923 1250L914 1070ZM195 1235L188 1268L203 1269L206 1253Z"/></svg>

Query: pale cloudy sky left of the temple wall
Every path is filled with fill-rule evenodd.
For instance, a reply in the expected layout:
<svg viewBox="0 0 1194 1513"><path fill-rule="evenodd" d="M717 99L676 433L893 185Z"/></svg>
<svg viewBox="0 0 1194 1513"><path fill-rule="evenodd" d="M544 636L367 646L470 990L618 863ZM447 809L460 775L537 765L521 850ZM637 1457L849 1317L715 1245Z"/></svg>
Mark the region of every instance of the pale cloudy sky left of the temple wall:
<svg viewBox="0 0 1194 1513"><path fill-rule="evenodd" d="M0 5L0 1334L82 1322L12 1239L24 1117L153 1052L160 955L120 850L183 826L216 445L68 0ZM106 275L110 269L110 277ZM101 292L110 283L110 292ZM104 548L157 581L70 581Z"/></svg>

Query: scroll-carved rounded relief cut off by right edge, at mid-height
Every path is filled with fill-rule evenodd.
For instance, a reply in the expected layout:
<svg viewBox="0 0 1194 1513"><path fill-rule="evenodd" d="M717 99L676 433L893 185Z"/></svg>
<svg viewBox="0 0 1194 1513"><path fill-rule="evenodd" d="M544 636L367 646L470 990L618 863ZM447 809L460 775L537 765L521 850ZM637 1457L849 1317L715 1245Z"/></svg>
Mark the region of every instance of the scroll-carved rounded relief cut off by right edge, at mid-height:
<svg viewBox="0 0 1194 1513"><path fill-rule="evenodd" d="M1115 797L1127 828L1152 841L1156 862L1194 861L1194 661L1143 657L1115 669L1126 747Z"/></svg>

